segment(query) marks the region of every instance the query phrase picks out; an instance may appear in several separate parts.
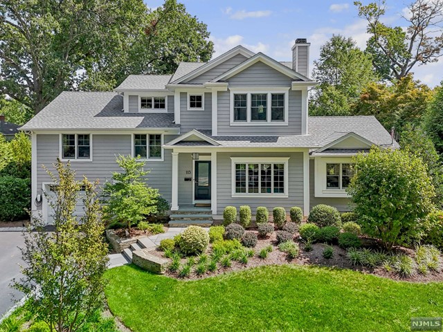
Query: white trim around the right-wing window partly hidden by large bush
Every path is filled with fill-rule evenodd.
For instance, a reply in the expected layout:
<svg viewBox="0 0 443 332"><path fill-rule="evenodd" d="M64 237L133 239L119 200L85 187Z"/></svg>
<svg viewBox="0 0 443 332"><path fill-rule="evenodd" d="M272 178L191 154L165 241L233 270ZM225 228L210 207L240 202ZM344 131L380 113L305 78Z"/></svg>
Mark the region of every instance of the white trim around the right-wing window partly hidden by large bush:
<svg viewBox="0 0 443 332"><path fill-rule="evenodd" d="M349 198L345 189L328 189L326 186L326 164L352 164L352 157L314 158L314 182L316 197Z"/></svg>

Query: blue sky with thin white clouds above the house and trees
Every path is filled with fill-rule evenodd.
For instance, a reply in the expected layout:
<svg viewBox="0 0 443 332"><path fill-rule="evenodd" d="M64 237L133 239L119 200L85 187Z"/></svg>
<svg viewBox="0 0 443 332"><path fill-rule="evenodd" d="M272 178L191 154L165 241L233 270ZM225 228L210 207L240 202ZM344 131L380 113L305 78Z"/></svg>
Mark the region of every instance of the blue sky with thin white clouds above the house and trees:
<svg viewBox="0 0 443 332"><path fill-rule="evenodd" d="M180 1L180 0L179 0ZM412 0L411 0L412 1ZM145 1L150 8L163 1ZM181 0L187 11L208 25L210 39L215 44L215 55L242 44L254 52L263 52L278 61L291 60L291 46L296 38L311 42L310 60L314 61L332 34L352 37L357 45L365 47L368 35L366 24L357 16L353 1L316 0ZM362 1L368 3L368 1ZM406 14L409 1L387 0L385 21L397 26L406 25L401 14ZM310 66L312 68L312 65ZM414 68L415 78L429 86L443 79L443 58L436 64Z"/></svg>

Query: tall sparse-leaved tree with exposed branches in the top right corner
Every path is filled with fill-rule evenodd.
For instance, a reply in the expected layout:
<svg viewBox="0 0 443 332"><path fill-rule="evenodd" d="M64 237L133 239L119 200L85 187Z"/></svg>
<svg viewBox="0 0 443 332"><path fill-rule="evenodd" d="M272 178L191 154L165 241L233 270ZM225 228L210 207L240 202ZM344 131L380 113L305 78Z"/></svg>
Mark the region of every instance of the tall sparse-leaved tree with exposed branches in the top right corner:
<svg viewBox="0 0 443 332"><path fill-rule="evenodd" d="M408 6L403 16L406 29L387 26L381 22L386 14L386 1L363 6L354 4L359 17L368 21L368 53L383 79L394 81L406 77L416 64L437 62L443 55L443 1L417 0Z"/></svg>

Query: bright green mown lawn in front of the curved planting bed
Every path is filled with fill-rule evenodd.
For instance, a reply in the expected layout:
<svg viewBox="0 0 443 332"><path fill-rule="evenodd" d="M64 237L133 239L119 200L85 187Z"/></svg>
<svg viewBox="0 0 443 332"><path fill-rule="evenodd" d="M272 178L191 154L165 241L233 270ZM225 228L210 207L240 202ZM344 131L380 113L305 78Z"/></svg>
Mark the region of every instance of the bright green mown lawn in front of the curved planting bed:
<svg viewBox="0 0 443 332"><path fill-rule="evenodd" d="M409 331L440 317L443 284L411 284L352 270L262 266L197 281L135 266L107 271L111 311L142 331Z"/></svg>

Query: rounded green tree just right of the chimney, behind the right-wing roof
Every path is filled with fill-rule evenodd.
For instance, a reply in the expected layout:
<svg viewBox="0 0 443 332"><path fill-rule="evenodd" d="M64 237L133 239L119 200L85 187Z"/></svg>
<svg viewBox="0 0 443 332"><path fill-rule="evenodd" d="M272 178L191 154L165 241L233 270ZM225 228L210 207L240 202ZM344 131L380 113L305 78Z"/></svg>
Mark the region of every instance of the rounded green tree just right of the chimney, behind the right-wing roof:
<svg viewBox="0 0 443 332"><path fill-rule="evenodd" d="M352 38L334 35L314 61L314 80L320 82L311 100L310 114L343 116L368 82L376 79L370 57Z"/></svg>

